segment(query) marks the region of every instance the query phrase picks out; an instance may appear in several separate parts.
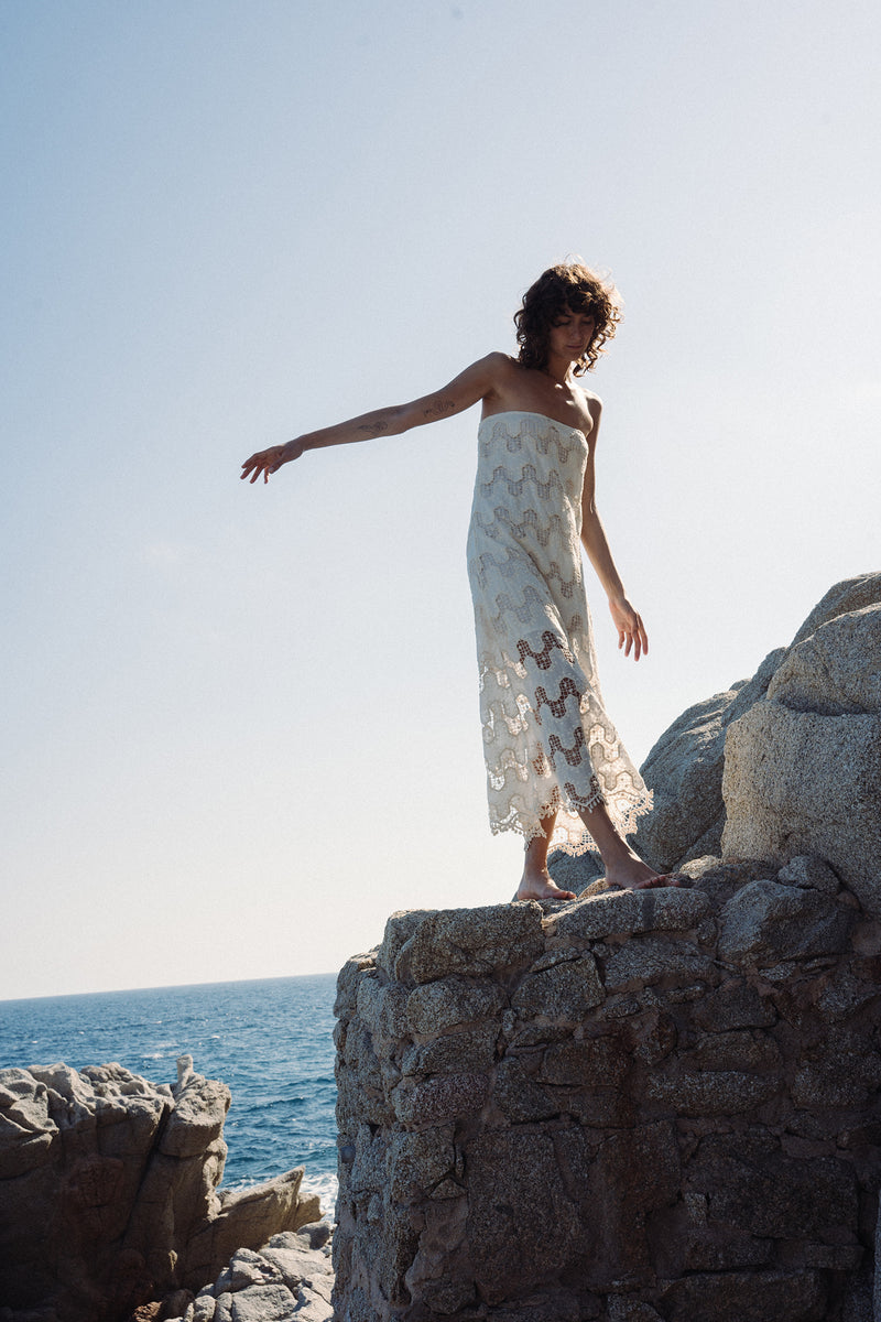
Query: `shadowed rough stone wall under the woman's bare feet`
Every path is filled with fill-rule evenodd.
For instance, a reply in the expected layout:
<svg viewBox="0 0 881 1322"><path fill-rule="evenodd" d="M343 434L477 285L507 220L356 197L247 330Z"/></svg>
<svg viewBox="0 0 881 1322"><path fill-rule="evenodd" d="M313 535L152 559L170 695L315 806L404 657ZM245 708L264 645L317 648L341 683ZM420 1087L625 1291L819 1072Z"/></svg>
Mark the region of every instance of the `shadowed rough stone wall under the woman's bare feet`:
<svg viewBox="0 0 881 1322"><path fill-rule="evenodd" d="M684 873L343 968L335 1317L870 1322L881 923L816 857Z"/></svg>

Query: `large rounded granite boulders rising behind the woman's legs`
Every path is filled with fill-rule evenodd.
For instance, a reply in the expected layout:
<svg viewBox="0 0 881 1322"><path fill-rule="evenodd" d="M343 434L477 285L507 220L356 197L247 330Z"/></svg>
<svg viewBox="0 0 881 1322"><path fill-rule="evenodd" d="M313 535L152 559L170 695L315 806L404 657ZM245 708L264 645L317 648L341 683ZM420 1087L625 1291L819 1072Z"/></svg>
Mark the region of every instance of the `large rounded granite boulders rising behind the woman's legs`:
<svg viewBox="0 0 881 1322"><path fill-rule="evenodd" d="M881 574L836 583L789 648L664 731L641 768L654 791L635 837L642 857L660 871L707 854L782 861L826 855L837 838L843 875L874 903L865 867L866 854L878 857L880 608ZM836 836L848 802L853 829ZM828 824L826 836L811 833L811 817ZM589 865L557 855L553 875L581 890L601 871Z"/></svg>

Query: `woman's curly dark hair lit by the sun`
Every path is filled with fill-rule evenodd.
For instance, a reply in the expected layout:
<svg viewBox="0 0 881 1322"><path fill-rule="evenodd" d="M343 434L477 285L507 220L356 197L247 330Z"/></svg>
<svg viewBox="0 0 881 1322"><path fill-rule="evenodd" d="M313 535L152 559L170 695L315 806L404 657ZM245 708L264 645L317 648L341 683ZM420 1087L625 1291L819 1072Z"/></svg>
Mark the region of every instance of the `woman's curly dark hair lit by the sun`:
<svg viewBox="0 0 881 1322"><path fill-rule="evenodd" d="M590 371L621 321L619 295L612 280L589 271L580 262L552 266L523 295L523 307L514 313L519 362L542 370L548 364L548 330L567 312L596 317L597 328L585 353L572 369L576 377Z"/></svg>

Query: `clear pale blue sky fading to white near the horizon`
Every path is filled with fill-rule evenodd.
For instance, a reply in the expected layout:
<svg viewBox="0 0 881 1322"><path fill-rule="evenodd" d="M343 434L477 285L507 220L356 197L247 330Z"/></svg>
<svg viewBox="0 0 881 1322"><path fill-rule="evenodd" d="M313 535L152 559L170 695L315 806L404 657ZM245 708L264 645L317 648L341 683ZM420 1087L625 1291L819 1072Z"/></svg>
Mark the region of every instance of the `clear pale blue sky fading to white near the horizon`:
<svg viewBox="0 0 881 1322"><path fill-rule="evenodd" d="M0 0L0 998L330 972L510 899L465 534L477 410L255 449L625 321L588 591L642 761L878 568L874 0Z"/></svg>

